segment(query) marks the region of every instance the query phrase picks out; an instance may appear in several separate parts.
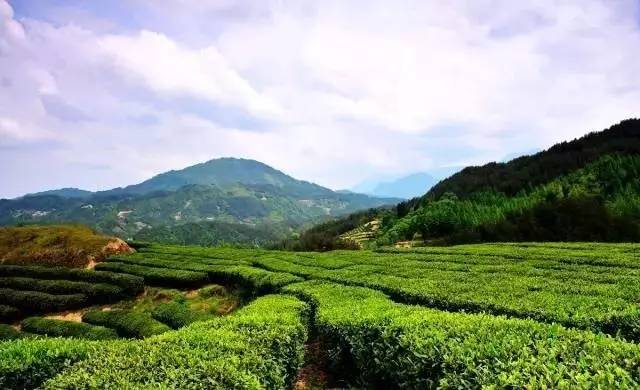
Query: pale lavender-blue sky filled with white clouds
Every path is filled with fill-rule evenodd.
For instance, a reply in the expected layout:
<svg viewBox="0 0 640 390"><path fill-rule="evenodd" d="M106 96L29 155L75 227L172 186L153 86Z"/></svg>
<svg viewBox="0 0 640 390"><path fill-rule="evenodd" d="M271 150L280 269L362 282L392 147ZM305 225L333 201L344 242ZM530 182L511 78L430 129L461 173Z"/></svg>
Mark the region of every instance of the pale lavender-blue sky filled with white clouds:
<svg viewBox="0 0 640 390"><path fill-rule="evenodd" d="M224 156L350 188L639 112L636 0L0 0L0 198Z"/></svg>

